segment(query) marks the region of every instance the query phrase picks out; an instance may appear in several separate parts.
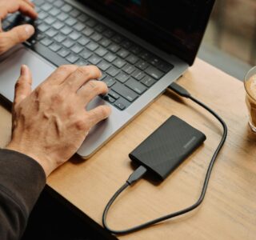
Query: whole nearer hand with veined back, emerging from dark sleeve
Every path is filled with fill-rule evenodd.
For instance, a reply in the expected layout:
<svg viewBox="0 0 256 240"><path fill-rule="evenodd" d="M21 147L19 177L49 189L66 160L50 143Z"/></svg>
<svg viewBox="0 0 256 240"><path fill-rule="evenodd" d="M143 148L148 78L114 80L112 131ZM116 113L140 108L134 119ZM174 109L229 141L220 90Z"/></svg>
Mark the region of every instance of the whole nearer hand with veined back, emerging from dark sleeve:
<svg viewBox="0 0 256 240"><path fill-rule="evenodd" d="M96 66L60 66L31 91L31 74L22 66L15 86L13 133L6 147L34 158L48 176L81 146L91 127L110 115L110 107L86 111L98 94L106 94Z"/></svg>

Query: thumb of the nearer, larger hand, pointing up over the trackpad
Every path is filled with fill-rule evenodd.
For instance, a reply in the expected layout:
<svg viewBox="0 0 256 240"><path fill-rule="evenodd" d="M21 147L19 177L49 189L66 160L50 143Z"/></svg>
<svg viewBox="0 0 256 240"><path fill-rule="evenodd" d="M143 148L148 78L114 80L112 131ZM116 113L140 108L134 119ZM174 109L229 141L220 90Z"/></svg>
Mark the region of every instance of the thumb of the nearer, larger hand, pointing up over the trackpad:
<svg viewBox="0 0 256 240"><path fill-rule="evenodd" d="M14 108L31 94L31 84L32 75L30 69L28 66L22 65L21 75L15 85Z"/></svg>

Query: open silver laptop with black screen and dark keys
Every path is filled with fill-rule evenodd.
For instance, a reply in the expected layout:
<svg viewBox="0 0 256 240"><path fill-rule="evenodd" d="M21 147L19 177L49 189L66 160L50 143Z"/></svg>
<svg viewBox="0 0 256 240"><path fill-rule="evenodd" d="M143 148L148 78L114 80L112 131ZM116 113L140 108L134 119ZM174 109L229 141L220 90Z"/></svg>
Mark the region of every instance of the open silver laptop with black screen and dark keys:
<svg viewBox="0 0 256 240"><path fill-rule="evenodd" d="M10 14L3 30L29 22L32 38L0 58L0 94L14 99L20 66L33 74L33 88L63 64L96 65L109 93L88 110L111 106L78 150L90 158L192 66L214 0L34 0L38 19Z"/></svg>

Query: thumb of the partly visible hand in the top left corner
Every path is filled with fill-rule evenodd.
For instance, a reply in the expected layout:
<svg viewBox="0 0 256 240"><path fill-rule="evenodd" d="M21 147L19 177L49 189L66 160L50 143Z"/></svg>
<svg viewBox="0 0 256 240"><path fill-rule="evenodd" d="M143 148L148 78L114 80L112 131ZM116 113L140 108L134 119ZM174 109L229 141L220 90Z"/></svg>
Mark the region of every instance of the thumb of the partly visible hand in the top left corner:
<svg viewBox="0 0 256 240"><path fill-rule="evenodd" d="M34 34L34 26L25 24L0 33L0 54L18 43L25 42Z"/></svg>

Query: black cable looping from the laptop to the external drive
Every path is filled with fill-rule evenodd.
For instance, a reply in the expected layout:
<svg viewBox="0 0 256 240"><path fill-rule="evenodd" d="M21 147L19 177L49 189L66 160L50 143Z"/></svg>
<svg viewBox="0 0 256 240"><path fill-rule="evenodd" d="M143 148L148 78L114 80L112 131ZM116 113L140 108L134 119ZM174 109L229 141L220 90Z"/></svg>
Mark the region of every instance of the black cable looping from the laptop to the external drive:
<svg viewBox="0 0 256 240"><path fill-rule="evenodd" d="M213 170L214 163L217 159L217 156L218 156L220 150L222 149L222 146L224 145L224 142L226 141L226 136L227 136L226 123L222 120L221 117L218 116L218 114L216 114L208 106L206 106L202 102L198 101L196 98L192 97L186 89L182 88L182 86L179 86L177 83L174 82L169 86L169 88L170 88L170 90L173 90L175 93L181 95L182 97L190 98L193 102L196 102L199 106L202 106L204 109L208 110L210 112L210 114L213 114L214 117L217 118L219 122L221 122L222 127L223 127L222 140L218 144L218 147L215 150L213 157L211 158L210 164L208 166L208 170L206 172L206 178L205 178L205 181L204 181L203 186L202 186L202 193L201 193L200 197L198 198L197 202L195 202L193 205L191 205L191 206L189 206L189 207L187 207L183 210L179 210L179 211L174 212L172 214L167 214L167 215L165 215L161 218L156 218L152 221L143 223L139 226L134 226L134 227L132 227L130 229L127 229L127 230L112 230L106 224L106 215L108 213L108 210L110 210L110 206L113 204L114 200L116 198L118 198L118 195L121 194L122 191L126 189L126 187L130 186L131 183L137 182L138 179L142 178L142 176L146 173L146 168L143 167L143 166L139 166L138 169L135 170L134 173L130 175L129 179L132 179L132 181L130 182L129 179L128 179L126 181L126 183L114 194L114 196L107 203L106 208L104 210L104 213L102 215L102 224L103 224L103 226L106 228L106 230L110 231L110 233L112 233L112 234L130 234L134 231L142 230L142 229L144 229L148 226L152 226L152 225L154 225L158 222L162 222L162 221L165 221L167 219L174 218L174 217L177 217L177 216L182 215L182 214L186 214L186 213L194 210L195 208L197 208L202 203L203 199L206 196L206 190L207 190L207 186L208 186L208 183L209 183L211 171Z"/></svg>

